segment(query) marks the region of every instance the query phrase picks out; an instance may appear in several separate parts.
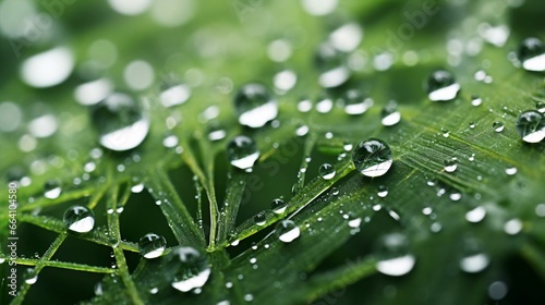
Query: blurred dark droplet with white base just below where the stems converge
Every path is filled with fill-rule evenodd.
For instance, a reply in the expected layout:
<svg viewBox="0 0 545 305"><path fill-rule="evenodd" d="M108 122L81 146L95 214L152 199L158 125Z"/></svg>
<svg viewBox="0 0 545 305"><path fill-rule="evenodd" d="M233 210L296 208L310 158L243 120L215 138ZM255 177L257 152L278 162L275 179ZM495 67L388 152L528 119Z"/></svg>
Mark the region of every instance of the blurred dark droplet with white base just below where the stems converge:
<svg viewBox="0 0 545 305"><path fill-rule="evenodd" d="M208 259L198 251L189 246L179 246L169 254L169 269L175 270L171 285L181 291L189 292L201 289L208 281L210 267Z"/></svg>

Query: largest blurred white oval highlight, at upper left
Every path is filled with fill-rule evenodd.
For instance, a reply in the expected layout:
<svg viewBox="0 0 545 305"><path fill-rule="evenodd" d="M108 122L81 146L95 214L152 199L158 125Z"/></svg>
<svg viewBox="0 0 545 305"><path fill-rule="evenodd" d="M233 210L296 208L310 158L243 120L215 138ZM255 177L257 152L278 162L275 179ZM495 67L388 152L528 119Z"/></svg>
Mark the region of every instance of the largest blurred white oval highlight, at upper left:
<svg viewBox="0 0 545 305"><path fill-rule="evenodd" d="M27 85L45 88L64 82L74 69L74 57L64 47L33 56L21 66L21 77Z"/></svg>

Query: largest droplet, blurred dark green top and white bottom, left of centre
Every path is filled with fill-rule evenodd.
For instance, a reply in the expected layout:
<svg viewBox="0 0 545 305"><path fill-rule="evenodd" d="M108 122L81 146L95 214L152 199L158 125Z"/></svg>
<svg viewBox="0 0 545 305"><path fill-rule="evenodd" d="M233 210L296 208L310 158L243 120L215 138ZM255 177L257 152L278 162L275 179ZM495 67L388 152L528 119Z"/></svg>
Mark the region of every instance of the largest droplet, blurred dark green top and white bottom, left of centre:
<svg viewBox="0 0 545 305"><path fill-rule="evenodd" d="M136 100L122 93L114 93L96 105L92 119L105 148L125 151L137 147L149 132L149 119Z"/></svg>

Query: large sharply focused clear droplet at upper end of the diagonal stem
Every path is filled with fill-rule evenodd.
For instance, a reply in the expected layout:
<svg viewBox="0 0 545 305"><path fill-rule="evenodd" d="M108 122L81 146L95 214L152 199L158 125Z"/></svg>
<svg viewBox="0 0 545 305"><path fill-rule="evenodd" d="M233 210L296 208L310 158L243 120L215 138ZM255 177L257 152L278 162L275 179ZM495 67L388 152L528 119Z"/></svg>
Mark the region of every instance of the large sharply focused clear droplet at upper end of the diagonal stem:
<svg viewBox="0 0 545 305"><path fill-rule="evenodd" d="M378 138L360 142L352 151L355 169L366 176L380 176L393 162L390 147Z"/></svg>

